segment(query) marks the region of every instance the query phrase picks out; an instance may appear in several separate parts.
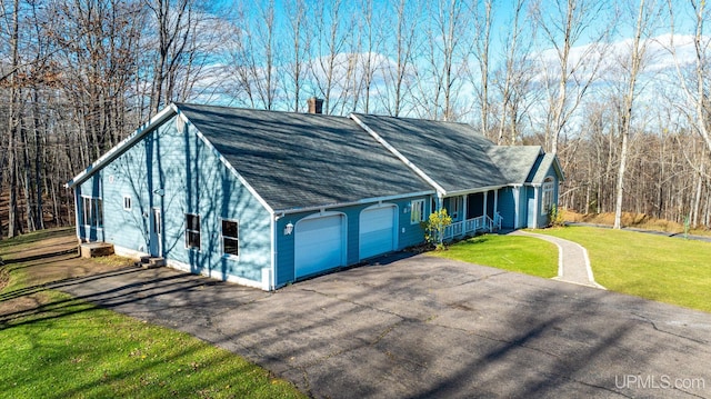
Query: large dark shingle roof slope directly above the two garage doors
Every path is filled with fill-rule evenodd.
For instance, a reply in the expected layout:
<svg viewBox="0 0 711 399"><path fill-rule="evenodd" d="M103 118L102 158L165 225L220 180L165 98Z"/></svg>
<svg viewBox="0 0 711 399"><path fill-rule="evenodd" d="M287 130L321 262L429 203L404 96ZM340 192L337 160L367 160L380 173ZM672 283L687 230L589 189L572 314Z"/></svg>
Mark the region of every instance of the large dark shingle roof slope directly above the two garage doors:
<svg viewBox="0 0 711 399"><path fill-rule="evenodd" d="M349 118L177 107L274 210L432 190Z"/></svg>

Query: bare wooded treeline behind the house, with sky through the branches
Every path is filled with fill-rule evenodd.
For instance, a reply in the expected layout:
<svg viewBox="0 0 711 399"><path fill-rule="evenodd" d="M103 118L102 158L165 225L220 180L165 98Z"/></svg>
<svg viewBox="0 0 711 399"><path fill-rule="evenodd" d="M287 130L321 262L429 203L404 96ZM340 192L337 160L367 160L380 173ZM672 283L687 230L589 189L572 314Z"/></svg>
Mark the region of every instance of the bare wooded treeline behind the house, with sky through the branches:
<svg viewBox="0 0 711 399"><path fill-rule="evenodd" d="M711 226L703 0L0 0L0 238L171 101L472 123L561 205ZM624 40L622 40L624 39Z"/></svg>

